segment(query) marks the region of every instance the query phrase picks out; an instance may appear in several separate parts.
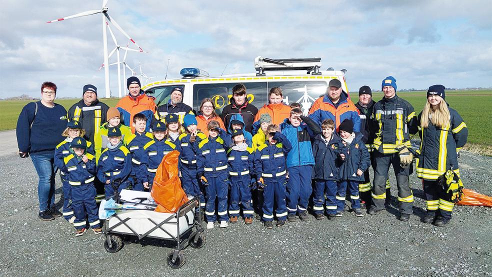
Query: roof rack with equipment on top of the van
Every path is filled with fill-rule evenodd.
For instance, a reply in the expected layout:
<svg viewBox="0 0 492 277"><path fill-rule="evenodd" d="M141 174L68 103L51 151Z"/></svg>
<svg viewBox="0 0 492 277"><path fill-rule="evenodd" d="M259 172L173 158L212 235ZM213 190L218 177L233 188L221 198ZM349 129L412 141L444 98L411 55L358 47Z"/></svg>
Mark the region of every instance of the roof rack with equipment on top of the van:
<svg viewBox="0 0 492 277"><path fill-rule="evenodd" d="M254 69L258 71L256 76L264 76L266 70L306 70L307 74L321 75L320 67L320 57L273 59L257 56L254 58Z"/></svg>

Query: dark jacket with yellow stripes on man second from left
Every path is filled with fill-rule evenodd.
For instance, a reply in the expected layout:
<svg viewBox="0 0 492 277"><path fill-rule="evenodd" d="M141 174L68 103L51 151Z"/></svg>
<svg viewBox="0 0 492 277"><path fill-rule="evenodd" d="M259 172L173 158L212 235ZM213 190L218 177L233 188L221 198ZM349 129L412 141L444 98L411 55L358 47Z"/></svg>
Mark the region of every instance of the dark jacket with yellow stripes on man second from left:
<svg viewBox="0 0 492 277"><path fill-rule="evenodd" d="M77 120L82 124L82 129L85 130L83 138L94 143L94 133L99 131L99 126L106 122L106 112L109 107L95 100L91 105L86 105L83 99L73 104L68 109L68 119ZM97 129L95 129L97 127Z"/></svg>

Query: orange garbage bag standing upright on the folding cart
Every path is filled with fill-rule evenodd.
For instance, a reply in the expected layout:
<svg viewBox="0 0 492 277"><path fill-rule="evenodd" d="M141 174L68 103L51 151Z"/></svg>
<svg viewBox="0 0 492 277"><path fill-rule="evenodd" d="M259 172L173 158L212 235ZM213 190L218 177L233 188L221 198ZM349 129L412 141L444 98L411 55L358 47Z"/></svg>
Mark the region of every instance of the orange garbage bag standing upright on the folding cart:
<svg viewBox="0 0 492 277"><path fill-rule="evenodd" d="M177 159L179 152L167 153L157 167L150 196L157 203L155 211L176 212L179 206L186 203L188 197L181 187Z"/></svg>

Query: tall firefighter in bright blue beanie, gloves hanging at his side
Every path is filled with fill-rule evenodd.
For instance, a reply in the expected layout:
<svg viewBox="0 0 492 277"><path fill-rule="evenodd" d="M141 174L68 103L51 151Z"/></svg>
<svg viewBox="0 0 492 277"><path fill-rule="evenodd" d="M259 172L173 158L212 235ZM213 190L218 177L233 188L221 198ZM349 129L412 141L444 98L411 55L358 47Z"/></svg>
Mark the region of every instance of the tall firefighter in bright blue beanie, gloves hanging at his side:
<svg viewBox="0 0 492 277"><path fill-rule="evenodd" d="M369 214L384 209L386 198L386 180L388 168L393 165L398 187L399 217L408 221L412 213L413 194L408 175L412 166L410 136L417 132L417 120L413 106L396 95L396 79L387 76L382 80L381 89L384 97L374 104L373 159L374 179L372 181L372 203Z"/></svg>

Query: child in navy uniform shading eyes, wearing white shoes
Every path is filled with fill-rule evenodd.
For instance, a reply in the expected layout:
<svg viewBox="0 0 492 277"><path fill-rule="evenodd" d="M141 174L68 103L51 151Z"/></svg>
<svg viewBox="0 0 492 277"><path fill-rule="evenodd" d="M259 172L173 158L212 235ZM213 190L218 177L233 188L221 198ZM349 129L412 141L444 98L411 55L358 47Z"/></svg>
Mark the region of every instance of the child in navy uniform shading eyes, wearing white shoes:
<svg viewBox="0 0 492 277"><path fill-rule="evenodd" d="M197 152L197 176L205 185L206 228L212 229L217 216L215 215L215 199L218 200L217 214L220 227L227 227L227 192L229 184L229 171L227 168L227 149L232 144L232 139L218 122L211 120L208 125L208 138L198 143Z"/></svg>

